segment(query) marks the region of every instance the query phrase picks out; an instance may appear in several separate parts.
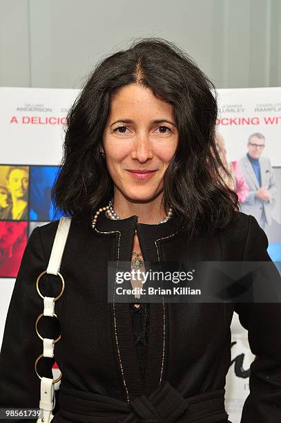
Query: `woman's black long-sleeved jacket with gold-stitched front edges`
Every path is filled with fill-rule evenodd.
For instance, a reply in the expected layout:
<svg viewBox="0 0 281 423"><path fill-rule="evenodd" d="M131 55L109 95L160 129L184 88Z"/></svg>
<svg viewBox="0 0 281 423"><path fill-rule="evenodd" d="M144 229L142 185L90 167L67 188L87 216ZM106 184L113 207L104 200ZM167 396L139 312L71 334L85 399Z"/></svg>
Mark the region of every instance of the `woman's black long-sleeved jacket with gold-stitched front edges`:
<svg viewBox="0 0 281 423"><path fill-rule="evenodd" d="M238 213L228 229L192 243L176 223L137 224L137 216L109 220L101 213L93 229L90 212L72 219L60 270L66 288L55 305L60 328L48 317L40 327L45 337L61 332L54 359L41 359L39 368L50 377L57 361L63 374L53 422L226 422L234 310L256 355L241 422L281 422L280 303L151 303L142 382L129 305L107 298L108 261L130 261L135 228L145 261L270 261L267 237L253 216ZM39 407L34 364L42 341L35 321L43 300L35 281L47 268L57 225L35 228L23 254L1 349L1 407ZM41 283L48 297L60 289L57 276Z"/></svg>

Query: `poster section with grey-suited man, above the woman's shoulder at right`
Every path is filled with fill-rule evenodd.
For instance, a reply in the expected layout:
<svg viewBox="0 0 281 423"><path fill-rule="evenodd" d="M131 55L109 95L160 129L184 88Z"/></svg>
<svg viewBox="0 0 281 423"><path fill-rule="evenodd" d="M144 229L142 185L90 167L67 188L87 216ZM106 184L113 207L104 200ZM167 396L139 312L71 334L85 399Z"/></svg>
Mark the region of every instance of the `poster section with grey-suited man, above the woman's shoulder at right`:
<svg viewBox="0 0 281 423"><path fill-rule="evenodd" d="M241 211L255 216L281 259L281 88L218 90L217 130Z"/></svg>

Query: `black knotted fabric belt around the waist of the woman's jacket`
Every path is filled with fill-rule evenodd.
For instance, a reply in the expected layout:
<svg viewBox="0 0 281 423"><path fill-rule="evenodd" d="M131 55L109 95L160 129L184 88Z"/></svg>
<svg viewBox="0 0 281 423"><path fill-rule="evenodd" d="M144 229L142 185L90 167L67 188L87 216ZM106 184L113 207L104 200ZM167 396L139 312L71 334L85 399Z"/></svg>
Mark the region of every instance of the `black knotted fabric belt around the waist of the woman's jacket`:
<svg viewBox="0 0 281 423"><path fill-rule="evenodd" d="M130 403L113 397L65 388L59 389L59 416L55 422L67 419L84 423L212 423L227 420L224 410L224 389L193 395L182 395L168 381L149 397L141 395ZM182 418L180 418L182 416ZM59 420L59 417L63 417ZM66 420L64 420L66 419Z"/></svg>

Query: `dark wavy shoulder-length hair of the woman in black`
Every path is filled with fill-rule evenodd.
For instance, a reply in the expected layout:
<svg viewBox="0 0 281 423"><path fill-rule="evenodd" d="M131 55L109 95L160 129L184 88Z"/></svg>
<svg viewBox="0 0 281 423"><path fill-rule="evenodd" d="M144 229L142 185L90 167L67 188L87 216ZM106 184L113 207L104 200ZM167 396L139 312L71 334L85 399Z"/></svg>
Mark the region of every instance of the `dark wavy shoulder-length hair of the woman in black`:
<svg viewBox="0 0 281 423"><path fill-rule="evenodd" d="M173 106L179 132L175 155L164 174L164 207L173 205L189 238L223 229L235 218L238 196L226 187L215 145L215 87L193 59L171 41L135 39L127 50L101 59L68 111L64 156L52 200L66 216L102 207L113 196L100 148L110 99L128 84L150 88Z"/></svg>

